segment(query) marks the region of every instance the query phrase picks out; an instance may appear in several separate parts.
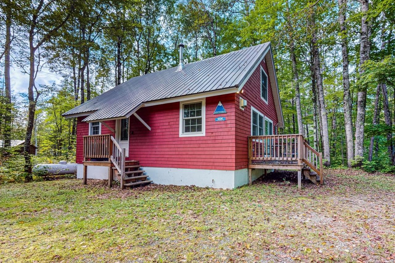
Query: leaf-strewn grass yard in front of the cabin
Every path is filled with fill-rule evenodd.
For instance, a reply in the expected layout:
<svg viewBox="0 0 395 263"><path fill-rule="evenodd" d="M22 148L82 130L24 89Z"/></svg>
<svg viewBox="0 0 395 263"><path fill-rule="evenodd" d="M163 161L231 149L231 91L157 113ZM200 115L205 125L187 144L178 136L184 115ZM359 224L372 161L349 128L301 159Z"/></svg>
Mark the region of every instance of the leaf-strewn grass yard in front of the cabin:
<svg viewBox="0 0 395 263"><path fill-rule="evenodd" d="M395 176L325 174L301 191L291 172L236 190L2 185L0 262L393 262Z"/></svg>

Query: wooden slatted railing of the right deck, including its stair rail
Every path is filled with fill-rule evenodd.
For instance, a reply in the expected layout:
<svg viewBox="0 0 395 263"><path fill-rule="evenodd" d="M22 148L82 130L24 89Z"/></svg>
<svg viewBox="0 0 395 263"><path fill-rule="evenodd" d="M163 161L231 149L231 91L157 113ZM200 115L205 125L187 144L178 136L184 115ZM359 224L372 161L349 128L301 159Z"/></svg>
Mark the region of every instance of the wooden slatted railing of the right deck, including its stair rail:
<svg viewBox="0 0 395 263"><path fill-rule="evenodd" d="M308 145L302 134L248 136L248 160L250 164L257 161L306 164L320 176L323 183L322 153Z"/></svg>

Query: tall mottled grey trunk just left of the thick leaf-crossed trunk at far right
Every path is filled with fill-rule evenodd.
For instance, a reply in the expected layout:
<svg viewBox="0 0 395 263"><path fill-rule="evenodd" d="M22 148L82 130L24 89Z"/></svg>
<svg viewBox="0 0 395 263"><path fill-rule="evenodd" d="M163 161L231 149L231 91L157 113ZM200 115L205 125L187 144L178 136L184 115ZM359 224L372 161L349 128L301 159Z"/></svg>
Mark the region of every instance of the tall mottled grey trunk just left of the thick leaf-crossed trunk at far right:
<svg viewBox="0 0 395 263"><path fill-rule="evenodd" d="M347 30L346 30L346 8L347 0L338 0L339 2L339 24L342 45L343 58L343 112L344 112L344 129L346 131L347 145L347 166L351 167L351 161L354 159L354 142L352 134L352 103L350 94L350 75L348 74L348 49L347 49Z"/></svg>

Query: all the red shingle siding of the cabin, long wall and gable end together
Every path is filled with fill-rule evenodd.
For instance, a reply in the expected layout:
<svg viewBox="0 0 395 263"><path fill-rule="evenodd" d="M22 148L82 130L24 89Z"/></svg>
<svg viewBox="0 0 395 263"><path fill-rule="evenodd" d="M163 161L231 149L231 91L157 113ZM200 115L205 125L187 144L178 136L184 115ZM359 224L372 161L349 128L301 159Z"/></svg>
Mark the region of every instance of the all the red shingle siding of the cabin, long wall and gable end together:
<svg viewBox="0 0 395 263"><path fill-rule="evenodd" d="M267 72L264 62L262 67ZM269 75L269 74L268 74ZM206 98L206 135L179 137L180 103L143 107L137 114L151 127L149 131L134 116L130 118L129 157L148 167L235 170L248 164L247 136L251 135L251 106L277 125L273 94L268 80L268 104L260 97L260 66L254 71L240 94L248 101L246 109L239 108L239 94ZM227 113L214 115L222 102ZM226 117L215 122L216 117ZM88 123L77 123L77 163L83 161L83 136L88 135ZM115 120L107 121L115 129ZM111 133L102 125L102 134Z"/></svg>

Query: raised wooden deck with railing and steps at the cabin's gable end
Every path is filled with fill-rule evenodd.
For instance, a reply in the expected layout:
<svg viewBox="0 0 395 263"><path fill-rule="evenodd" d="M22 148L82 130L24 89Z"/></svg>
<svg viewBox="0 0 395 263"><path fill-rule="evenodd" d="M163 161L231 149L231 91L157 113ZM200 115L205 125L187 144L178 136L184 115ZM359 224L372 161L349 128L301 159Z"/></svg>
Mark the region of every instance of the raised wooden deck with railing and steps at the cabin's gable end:
<svg viewBox="0 0 395 263"><path fill-rule="evenodd" d="M302 134L248 137L249 184L252 184L252 169L297 170L299 189L302 173L315 183L319 177L323 184L322 168L322 153L314 150Z"/></svg>

